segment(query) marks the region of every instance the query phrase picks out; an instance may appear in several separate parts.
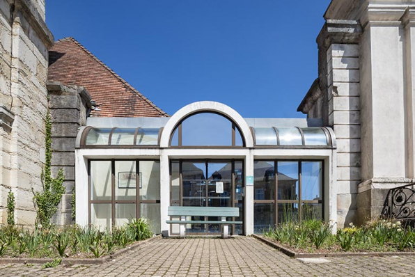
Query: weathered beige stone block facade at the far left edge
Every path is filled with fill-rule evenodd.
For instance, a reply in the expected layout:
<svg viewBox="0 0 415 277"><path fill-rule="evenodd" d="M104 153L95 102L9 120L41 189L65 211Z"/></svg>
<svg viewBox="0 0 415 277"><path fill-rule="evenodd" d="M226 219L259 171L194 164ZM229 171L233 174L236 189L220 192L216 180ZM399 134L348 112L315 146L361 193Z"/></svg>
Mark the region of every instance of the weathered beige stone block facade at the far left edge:
<svg viewBox="0 0 415 277"><path fill-rule="evenodd" d="M45 161L47 60L53 36L45 1L0 2L0 223L8 189L15 193L18 224L33 224L31 189L40 190Z"/></svg>

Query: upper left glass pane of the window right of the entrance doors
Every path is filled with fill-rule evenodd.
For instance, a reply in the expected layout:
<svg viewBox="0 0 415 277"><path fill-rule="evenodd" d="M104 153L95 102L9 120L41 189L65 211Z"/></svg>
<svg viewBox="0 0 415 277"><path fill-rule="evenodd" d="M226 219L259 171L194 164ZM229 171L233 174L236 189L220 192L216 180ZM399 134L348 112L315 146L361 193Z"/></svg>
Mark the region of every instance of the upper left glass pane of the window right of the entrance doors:
<svg viewBox="0 0 415 277"><path fill-rule="evenodd" d="M275 199L274 161L255 161L253 163L253 189L255 200Z"/></svg>

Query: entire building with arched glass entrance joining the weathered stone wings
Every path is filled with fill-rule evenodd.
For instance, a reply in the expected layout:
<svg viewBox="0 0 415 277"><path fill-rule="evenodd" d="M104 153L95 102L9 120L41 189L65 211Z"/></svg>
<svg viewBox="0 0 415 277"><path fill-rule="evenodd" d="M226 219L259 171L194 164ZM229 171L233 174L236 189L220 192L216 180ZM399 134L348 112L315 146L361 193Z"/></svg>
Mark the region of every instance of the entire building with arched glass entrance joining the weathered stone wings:
<svg viewBox="0 0 415 277"><path fill-rule="evenodd" d="M199 205L238 207L233 234L308 217L343 227L379 216L389 189L415 180L415 0L331 1L306 119L242 118L218 102L170 117L77 40L53 42L44 1L0 11L0 223L8 189L17 223L34 222L48 108L52 169L66 179L58 225L72 222L75 187L80 225L146 217L175 235L168 207Z"/></svg>

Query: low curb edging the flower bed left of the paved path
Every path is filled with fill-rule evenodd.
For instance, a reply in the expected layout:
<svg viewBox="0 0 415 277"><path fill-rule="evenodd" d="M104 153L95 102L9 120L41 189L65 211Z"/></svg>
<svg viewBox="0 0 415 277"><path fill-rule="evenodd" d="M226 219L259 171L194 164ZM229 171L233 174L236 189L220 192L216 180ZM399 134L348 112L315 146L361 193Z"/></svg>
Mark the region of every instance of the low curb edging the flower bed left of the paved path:
<svg viewBox="0 0 415 277"><path fill-rule="evenodd" d="M109 262L114 258L119 257L129 251L132 251L140 246L148 244L156 239L161 239L162 235L157 235L155 237L151 237L150 239L146 239L140 242L134 242L130 246L126 248L120 249L116 253L112 253L110 255L105 255L102 258L63 258L61 261L61 265L73 265L73 264L104 264L105 262ZM54 259L52 258L0 258L0 264L45 264L46 262L52 262Z"/></svg>

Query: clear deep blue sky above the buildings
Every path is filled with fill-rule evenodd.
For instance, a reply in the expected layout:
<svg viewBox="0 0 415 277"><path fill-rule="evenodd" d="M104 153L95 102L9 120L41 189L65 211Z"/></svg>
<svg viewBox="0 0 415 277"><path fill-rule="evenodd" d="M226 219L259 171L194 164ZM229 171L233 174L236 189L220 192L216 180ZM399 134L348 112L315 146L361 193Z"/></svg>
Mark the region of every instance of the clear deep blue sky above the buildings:
<svg viewBox="0 0 415 277"><path fill-rule="evenodd" d="M212 100L246 118L304 117L329 0L117 2L48 0L47 25L169 114Z"/></svg>

